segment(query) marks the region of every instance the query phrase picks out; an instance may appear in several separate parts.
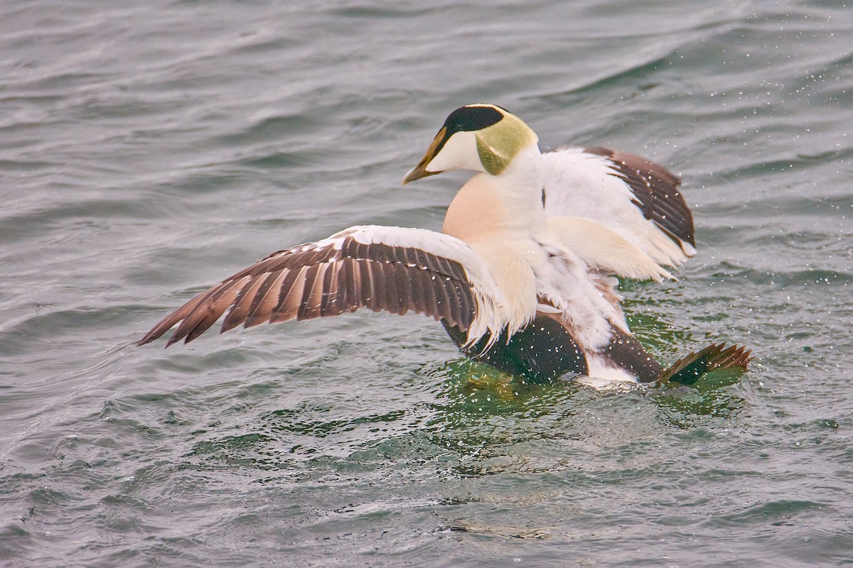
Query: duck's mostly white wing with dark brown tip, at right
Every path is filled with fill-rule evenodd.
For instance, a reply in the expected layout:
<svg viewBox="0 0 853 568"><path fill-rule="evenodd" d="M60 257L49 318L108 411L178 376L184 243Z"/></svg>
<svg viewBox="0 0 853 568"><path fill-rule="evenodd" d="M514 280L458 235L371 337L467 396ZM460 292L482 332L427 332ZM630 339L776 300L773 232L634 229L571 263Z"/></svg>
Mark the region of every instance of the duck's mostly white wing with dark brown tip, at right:
<svg viewBox="0 0 853 568"><path fill-rule="evenodd" d="M561 147L543 161L549 217L595 221L661 265L678 266L695 254L681 180L664 167L605 148Z"/></svg>

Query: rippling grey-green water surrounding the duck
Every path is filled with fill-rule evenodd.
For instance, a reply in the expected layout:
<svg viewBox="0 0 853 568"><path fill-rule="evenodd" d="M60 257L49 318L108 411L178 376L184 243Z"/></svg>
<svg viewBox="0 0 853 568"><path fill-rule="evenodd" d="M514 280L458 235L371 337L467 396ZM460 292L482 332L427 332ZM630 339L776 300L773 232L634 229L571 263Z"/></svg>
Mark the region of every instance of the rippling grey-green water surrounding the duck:
<svg viewBox="0 0 853 568"><path fill-rule="evenodd" d="M850 564L851 33L831 1L3 3L3 564ZM753 370L527 386L372 313L135 346L273 250L440 227L464 175L399 184L475 101L682 175L699 255L625 284L631 324Z"/></svg>

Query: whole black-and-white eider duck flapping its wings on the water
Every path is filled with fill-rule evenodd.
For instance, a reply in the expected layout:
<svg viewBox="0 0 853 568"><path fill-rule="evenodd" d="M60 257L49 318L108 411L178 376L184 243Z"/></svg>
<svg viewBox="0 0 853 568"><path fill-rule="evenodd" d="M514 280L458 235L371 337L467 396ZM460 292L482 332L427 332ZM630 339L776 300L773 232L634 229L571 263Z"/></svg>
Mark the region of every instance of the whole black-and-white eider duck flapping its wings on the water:
<svg viewBox="0 0 853 568"><path fill-rule="evenodd" d="M674 278L695 255L681 180L659 164L601 147L541 152L502 106L461 106L403 185L450 170L473 176L441 232L360 225L279 250L165 316L144 345L189 342L223 318L239 325L325 318L360 308L420 313L461 353L525 380L595 377L689 385L746 370L751 351L724 343L661 364L631 333L618 278Z"/></svg>

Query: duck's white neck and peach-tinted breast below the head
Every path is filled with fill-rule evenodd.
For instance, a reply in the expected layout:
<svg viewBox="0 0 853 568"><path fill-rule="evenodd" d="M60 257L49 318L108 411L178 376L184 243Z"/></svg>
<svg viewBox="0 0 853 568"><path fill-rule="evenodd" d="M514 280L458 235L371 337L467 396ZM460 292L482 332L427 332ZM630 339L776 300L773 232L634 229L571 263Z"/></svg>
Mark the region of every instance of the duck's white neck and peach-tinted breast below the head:
<svg viewBox="0 0 853 568"><path fill-rule="evenodd" d="M534 143L516 154L501 175L481 172L468 180L447 209L442 231L469 243L543 236L542 190L542 154Z"/></svg>

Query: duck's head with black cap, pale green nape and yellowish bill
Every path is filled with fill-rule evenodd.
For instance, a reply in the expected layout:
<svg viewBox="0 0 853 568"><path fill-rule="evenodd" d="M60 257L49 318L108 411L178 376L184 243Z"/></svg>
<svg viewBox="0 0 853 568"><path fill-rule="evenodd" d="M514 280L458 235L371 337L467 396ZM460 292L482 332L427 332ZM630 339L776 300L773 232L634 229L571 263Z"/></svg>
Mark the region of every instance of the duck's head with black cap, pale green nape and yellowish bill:
<svg viewBox="0 0 853 568"><path fill-rule="evenodd" d="M444 121L427 153L403 178L403 184L449 169L501 175L521 150L537 141L529 126L500 106L461 106Z"/></svg>

